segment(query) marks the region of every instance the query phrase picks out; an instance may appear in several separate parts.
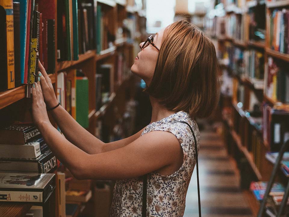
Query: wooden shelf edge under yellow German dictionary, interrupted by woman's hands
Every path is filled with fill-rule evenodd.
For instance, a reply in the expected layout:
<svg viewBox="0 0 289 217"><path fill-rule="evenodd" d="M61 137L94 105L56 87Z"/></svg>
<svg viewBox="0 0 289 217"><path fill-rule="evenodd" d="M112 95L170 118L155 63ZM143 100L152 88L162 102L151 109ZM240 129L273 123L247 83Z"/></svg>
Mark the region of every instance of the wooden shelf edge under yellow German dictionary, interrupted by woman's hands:
<svg viewBox="0 0 289 217"><path fill-rule="evenodd" d="M55 74L48 74L48 77L50 77L52 83L55 83ZM13 104L14 102L17 102L18 100L25 98L25 91L26 84L15 87L11 90L0 92L0 109L5 108L6 106Z"/></svg>

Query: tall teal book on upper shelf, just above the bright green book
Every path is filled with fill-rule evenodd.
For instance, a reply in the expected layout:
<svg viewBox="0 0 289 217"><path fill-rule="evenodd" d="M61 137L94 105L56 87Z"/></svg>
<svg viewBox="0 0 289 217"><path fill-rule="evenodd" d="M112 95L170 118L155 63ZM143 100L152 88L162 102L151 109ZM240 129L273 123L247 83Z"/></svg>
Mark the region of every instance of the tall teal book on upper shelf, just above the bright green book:
<svg viewBox="0 0 289 217"><path fill-rule="evenodd" d="M79 58L78 48L78 11L77 0L72 0L72 23L73 23L73 60Z"/></svg>

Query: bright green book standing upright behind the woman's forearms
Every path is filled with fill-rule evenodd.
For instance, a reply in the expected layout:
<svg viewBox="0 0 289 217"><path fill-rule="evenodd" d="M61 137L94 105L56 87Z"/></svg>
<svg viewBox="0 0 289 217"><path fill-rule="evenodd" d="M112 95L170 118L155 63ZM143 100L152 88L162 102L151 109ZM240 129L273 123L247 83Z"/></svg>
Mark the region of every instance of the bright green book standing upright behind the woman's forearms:
<svg viewBox="0 0 289 217"><path fill-rule="evenodd" d="M88 78L76 78L76 121L84 128L89 127L88 119Z"/></svg>

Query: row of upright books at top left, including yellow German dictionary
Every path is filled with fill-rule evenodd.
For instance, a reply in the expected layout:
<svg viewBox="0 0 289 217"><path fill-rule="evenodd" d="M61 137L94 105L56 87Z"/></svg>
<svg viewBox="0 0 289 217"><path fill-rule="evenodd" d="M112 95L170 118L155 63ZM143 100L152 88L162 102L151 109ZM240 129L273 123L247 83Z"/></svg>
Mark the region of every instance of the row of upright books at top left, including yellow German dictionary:
<svg viewBox="0 0 289 217"><path fill-rule="evenodd" d="M38 59L48 73L55 71L55 7L51 2L2 1L0 8L5 16L0 20L0 66L5 73L0 75L1 90L37 81Z"/></svg>

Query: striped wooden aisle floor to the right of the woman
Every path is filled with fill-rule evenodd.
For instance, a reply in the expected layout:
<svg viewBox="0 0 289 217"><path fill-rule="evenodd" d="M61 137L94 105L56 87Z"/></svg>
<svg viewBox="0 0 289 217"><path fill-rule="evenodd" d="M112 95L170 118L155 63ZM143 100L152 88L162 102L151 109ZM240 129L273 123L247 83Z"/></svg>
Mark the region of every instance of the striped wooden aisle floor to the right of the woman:
<svg viewBox="0 0 289 217"><path fill-rule="evenodd" d="M221 135L205 125L200 131L199 178L203 217L252 217L239 189L238 174L229 159ZM186 197L184 217L198 215L197 174L194 169Z"/></svg>

